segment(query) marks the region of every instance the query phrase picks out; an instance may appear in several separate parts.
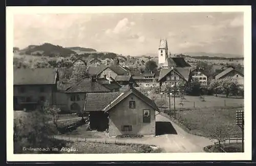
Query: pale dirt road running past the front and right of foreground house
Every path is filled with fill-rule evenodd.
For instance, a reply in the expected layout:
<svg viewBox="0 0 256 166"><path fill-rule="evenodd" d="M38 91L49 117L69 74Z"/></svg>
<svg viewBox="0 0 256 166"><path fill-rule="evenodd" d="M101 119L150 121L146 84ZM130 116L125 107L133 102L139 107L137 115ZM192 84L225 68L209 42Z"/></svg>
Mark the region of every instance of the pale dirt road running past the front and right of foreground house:
<svg viewBox="0 0 256 166"><path fill-rule="evenodd" d="M162 124L163 128L161 128ZM169 126L166 126L169 125ZM161 133L155 137L144 136L142 138L81 138L81 137L69 137L62 135L54 135L56 139L70 140L70 141L83 141L83 142L101 142L101 143L135 143L155 145L163 149L163 152L204 152L203 148L208 145L212 145L213 142L206 137L189 134L184 131L180 126L170 121L167 117L159 114L156 116L156 130L161 130ZM159 131L157 131L159 132Z"/></svg>

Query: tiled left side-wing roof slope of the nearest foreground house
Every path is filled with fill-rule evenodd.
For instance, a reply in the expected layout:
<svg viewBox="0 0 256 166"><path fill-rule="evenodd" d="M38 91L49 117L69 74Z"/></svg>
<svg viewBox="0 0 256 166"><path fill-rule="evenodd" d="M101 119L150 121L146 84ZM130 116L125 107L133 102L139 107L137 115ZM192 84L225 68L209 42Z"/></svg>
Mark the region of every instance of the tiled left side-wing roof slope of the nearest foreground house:
<svg viewBox="0 0 256 166"><path fill-rule="evenodd" d="M112 101L114 101L121 93L87 93L84 103L84 111L99 111L103 110Z"/></svg>

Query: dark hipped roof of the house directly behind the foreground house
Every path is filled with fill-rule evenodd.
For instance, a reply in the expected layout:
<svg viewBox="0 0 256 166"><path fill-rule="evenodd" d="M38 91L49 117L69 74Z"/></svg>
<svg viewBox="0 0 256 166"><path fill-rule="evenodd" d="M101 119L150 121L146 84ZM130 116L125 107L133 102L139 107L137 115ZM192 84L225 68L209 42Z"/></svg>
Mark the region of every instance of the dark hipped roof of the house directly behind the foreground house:
<svg viewBox="0 0 256 166"><path fill-rule="evenodd" d="M92 82L90 78L84 78L77 84L69 87L66 93L87 93L87 92L110 92L109 89L100 85L98 82Z"/></svg>

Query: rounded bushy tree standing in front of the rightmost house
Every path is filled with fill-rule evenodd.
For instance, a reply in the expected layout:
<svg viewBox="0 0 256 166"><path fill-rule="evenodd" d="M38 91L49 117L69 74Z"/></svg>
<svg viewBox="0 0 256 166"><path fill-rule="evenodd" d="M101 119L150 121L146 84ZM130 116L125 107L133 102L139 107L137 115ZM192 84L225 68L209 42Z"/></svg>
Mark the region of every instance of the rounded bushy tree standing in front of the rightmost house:
<svg viewBox="0 0 256 166"><path fill-rule="evenodd" d="M228 97L230 93L237 94L239 90L238 81L231 77L219 79L219 86L219 89L225 93L226 97Z"/></svg>

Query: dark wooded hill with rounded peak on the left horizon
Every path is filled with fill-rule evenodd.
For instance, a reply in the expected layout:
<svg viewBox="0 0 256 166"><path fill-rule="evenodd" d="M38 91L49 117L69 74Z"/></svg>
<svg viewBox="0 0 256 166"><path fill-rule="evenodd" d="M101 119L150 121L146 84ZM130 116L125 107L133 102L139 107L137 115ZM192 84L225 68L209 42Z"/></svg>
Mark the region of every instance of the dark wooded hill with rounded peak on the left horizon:
<svg viewBox="0 0 256 166"><path fill-rule="evenodd" d="M42 45L29 45L28 47L20 50L20 54L28 54L34 56L48 56L48 57L69 57L75 51L67 48L63 48L59 45L53 45L50 43L44 43Z"/></svg>

